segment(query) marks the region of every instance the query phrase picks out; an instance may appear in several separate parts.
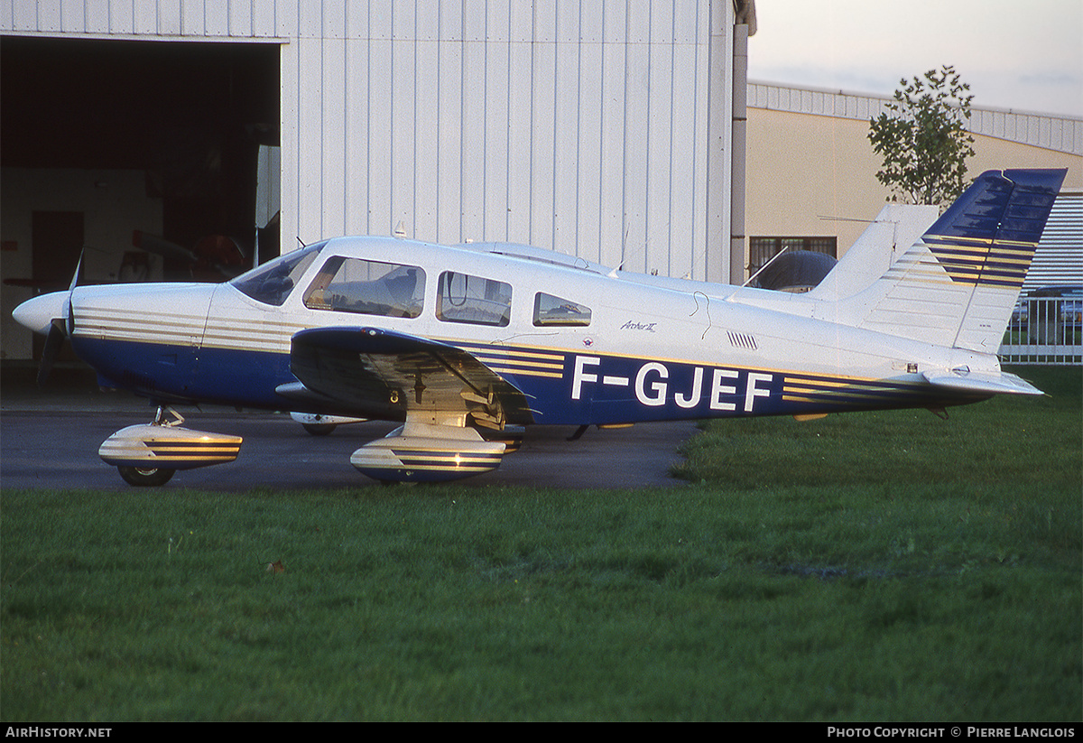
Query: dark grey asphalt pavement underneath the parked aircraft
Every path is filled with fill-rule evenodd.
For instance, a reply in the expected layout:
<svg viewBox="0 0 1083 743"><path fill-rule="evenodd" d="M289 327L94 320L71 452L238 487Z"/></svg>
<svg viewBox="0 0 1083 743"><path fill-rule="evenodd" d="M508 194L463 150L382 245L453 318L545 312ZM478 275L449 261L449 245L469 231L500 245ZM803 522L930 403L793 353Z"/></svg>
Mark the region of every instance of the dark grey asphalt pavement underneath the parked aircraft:
<svg viewBox="0 0 1083 743"><path fill-rule="evenodd" d="M132 490L97 447L114 431L146 423L155 408L146 400L97 389L92 375L54 370L38 388L34 369L4 367L0 375L0 486ZM378 487L350 465L350 455L396 423L340 426L310 435L288 415L237 413L232 408L179 408L184 426L240 435L236 461L180 471L161 490L185 487L244 492L253 488ZM689 421L589 429L578 441L572 427L531 427L522 448L490 473L459 481L486 487L534 485L562 488L675 487L669 475L678 448L695 434Z"/></svg>

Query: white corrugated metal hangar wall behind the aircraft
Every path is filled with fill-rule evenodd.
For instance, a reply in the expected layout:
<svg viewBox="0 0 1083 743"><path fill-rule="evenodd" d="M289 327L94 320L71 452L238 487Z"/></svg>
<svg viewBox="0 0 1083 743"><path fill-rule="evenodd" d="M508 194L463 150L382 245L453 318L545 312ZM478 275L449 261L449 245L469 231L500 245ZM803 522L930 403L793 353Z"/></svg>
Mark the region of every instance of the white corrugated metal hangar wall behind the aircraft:
<svg viewBox="0 0 1083 743"><path fill-rule="evenodd" d="M728 279L732 0L3 0L0 30L282 44L282 240L529 243Z"/></svg>

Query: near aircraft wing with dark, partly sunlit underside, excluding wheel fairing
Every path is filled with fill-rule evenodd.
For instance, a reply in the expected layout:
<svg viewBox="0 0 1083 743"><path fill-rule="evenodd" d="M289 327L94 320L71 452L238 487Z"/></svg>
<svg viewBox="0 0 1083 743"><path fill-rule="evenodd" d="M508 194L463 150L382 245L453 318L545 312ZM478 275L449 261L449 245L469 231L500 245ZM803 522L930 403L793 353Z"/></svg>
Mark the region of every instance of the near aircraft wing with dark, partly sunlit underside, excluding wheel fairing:
<svg viewBox="0 0 1083 743"><path fill-rule="evenodd" d="M341 414L433 422L467 417L487 428L534 421L525 395L462 349L393 330L328 327L292 338L290 370L300 383L278 393Z"/></svg>

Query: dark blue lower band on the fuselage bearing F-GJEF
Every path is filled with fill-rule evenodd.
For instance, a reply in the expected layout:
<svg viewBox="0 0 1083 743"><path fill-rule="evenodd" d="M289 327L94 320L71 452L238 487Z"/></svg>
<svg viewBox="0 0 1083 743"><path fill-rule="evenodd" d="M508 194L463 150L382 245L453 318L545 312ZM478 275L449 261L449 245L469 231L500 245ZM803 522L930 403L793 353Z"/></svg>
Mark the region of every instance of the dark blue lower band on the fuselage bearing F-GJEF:
<svg viewBox="0 0 1083 743"><path fill-rule="evenodd" d="M78 336L73 344L102 377L144 396L268 409L296 406L275 393L279 384L296 381L289 370L289 354ZM472 351L469 344L462 347ZM544 369L501 372L526 395L535 421L544 425L797 415L941 406L981 399L945 397L945 392L919 381L851 379L553 349L488 346L486 351L491 357L506 355L509 367L521 354L563 357L559 376Z"/></svg>

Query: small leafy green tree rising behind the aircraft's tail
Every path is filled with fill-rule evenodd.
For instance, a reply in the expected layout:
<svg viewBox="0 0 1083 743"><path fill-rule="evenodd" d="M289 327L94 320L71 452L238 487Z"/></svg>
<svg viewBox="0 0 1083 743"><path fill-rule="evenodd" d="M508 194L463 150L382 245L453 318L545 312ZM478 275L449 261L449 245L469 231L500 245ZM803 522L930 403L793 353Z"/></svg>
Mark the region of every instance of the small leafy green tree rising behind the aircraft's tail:
<svg viewBox="0 0 1083 743"><path fill-rule="evenodd" d="M966 130L970 86L949 65L899 84L887 106L892 114L869 122L869 141L884 157L876 179L909 204L952 201L963 193L966 158L974 155Z"/></svg>

